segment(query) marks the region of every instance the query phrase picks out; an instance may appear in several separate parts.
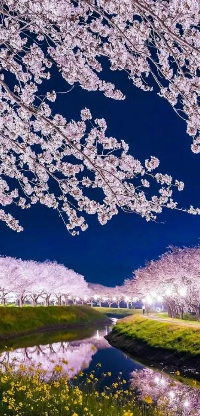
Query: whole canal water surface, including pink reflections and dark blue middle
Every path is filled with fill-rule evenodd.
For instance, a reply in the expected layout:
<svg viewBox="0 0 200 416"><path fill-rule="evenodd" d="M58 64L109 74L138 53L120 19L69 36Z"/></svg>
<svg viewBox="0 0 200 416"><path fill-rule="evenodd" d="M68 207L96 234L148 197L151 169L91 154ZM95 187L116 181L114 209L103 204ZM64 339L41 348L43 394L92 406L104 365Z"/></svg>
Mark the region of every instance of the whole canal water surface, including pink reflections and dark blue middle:
<svg viewBox="0 0 200 416"><path fill-rule="evenodd" d="M111 347L104 338L111 330L111 326L103 328L77 328L70 331L47 332L27 336L19 339L0 342L0 362L13 363L17 369L20 364L26 367L37 367L41 363L42 369L47 371L47 379L56 364L62 364L64 371L70 378L80 371L85 374L95 370L97 377L102 379L99 389L116 382L119 373L127 380L126 389L130 386L136 389L140 398L151 396L159 403L161 397L169 402L169 410L182 416L200 416L200 383L198 374L191 374L191 378L175 374L177 369L145 367L141 363L128 357L120 350ZM101 363L101 368L97 364ZM102 377L102 372L111 372L111 377ZM171 373L171 374L170 374ZM196 380L195 380L196 379ZM168 415L168 413L166 413Z"/></svg>

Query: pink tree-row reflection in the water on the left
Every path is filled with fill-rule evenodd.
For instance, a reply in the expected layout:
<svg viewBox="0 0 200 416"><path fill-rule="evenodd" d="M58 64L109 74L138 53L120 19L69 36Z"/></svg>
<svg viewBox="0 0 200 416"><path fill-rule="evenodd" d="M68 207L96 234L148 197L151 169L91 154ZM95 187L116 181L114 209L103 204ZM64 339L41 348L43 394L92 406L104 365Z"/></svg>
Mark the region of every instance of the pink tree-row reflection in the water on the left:
<svg viewBox="0 0 200 416"><path fill-rule="evenodd" d="M41 364L41 369L47 372L47 378L51 376L55 365L62 365L63 371L69 378L81 370L89 367L94 354L103 348L111 348L104 336L108 328L97 329L92 337L78 341L61 341L39 344L32 347L5 350L1 353L0 362L3 366L11 365L14 362L17 370L21 364L25 367L36 368Z"/></svg>

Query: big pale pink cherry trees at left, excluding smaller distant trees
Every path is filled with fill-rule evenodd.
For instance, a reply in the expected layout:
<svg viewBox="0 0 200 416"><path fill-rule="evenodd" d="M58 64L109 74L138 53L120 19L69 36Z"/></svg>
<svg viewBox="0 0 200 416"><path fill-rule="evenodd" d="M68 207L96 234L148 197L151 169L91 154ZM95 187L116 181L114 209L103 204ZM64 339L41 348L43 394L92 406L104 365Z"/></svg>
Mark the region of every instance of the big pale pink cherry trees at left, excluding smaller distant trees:
<svg viewBox="0 0 200 416"><path fill-rule="evenodd" d="M0 257L0 297L3 306L7 300L18 301L23 306L38 300L49 306L50 299L61 305L64 299L89 294L84 277L57 262L34 262L12 257Z"/></svg>

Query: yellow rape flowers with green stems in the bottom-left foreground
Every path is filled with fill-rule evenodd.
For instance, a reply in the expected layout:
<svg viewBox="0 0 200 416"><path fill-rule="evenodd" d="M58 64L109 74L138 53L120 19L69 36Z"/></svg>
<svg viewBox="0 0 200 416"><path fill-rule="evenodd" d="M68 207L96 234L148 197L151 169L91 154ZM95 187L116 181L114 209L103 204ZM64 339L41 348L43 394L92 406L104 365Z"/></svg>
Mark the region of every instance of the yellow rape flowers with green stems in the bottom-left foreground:
<svg viewBox="0 0 200 416"><path fill-rule="evenodd" d="M153 407L150 397L138 403L133 390L124 390L126 381L121 374L116 382L102 388L101 381L110 377L111 372L97 377L92 371L87 376L80 372L69 379L63 366L55 365L47 379L40 364L37 368L20 365L16 370L13 363L0 371L0 416L165 415L164 411Z"/></svg>

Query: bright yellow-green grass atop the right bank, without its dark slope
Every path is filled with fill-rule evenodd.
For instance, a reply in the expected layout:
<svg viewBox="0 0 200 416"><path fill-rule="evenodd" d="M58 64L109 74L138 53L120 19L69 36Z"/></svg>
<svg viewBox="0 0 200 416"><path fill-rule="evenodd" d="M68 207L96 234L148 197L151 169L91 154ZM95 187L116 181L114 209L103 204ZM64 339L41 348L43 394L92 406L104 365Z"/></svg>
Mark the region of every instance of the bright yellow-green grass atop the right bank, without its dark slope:
<svg viewBox="0 0 200 416"><path fill-rule="evenodd" d="M177 322L159 322L135 315L118 321L113 331L125 337L144 341L149 347L192 355L200 354L200 330L178 325Z"/></svg>

